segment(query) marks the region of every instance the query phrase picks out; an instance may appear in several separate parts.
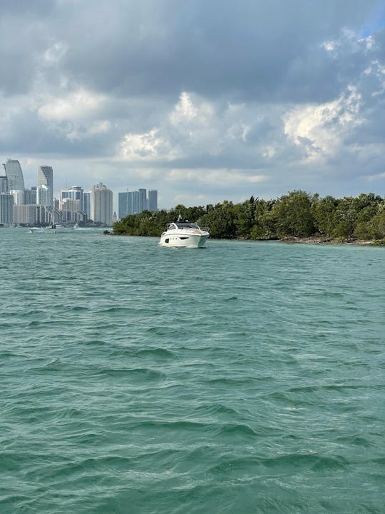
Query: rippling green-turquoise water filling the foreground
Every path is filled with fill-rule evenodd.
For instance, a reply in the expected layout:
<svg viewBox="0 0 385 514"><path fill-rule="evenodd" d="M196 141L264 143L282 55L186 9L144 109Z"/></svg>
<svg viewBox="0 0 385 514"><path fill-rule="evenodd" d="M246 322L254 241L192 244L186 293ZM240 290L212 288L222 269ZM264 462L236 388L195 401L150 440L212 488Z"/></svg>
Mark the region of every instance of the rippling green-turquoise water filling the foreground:
<svg viewBox="0 0 385 514"><path fill-rule="evenodd" d="M0 513L385 513L385 248L0 229Z"/></svg>

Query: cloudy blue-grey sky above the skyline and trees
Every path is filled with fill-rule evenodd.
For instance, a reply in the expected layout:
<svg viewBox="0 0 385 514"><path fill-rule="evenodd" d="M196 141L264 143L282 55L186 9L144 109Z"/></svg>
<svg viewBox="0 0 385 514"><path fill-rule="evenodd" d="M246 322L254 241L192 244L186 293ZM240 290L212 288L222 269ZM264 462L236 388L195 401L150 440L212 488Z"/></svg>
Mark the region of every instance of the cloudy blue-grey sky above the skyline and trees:
<svg viewBox="0 0 385 514"><path fill-rule="evenodd" d="M0 41L26 187L385 196L385 0L1 0Z"/></svg>

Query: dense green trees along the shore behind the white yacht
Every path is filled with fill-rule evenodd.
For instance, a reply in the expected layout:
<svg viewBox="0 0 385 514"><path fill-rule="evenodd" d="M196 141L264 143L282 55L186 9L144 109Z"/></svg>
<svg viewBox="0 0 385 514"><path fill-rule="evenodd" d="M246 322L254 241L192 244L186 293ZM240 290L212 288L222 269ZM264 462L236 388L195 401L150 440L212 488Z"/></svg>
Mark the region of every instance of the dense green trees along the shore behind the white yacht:
<svg viewBox="0 0 385 514"><path fill-rule="evenodd" d="M202 227L212 238L254 240L319 238L321 241L365 239L384 244L385 199L374 193L333 198L291 191L276 200L252 196L243 203L223 201L206 207L175 206L171 211L126 216L113 225L114 234L160 236L178 214Z"/></svg>

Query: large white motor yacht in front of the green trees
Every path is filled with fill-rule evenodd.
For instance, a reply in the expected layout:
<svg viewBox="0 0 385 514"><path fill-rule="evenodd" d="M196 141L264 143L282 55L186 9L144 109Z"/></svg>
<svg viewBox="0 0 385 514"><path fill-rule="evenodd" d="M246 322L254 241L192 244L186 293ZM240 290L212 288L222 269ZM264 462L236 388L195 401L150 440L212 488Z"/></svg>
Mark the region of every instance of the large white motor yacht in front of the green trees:
<svg viewBox="0 0 385 514"><path fill-rule="evenodd" d="M160 236L159 244L175 248L202 248L209 236L207 228L200 228L197 223L190 223L179 215Z"/></svg>

